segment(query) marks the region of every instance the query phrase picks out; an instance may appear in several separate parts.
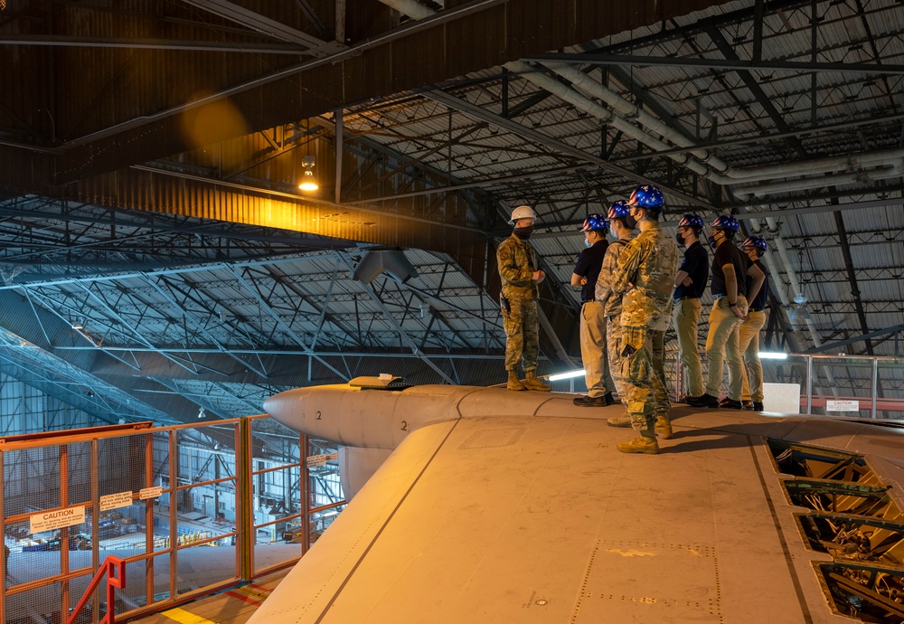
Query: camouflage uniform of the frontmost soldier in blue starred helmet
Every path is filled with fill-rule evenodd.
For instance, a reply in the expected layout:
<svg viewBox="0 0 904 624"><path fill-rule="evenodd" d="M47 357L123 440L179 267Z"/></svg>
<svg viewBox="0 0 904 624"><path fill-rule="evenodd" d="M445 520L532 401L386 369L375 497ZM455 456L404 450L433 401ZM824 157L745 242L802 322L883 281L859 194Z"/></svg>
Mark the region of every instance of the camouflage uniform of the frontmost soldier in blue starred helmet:
<svg viewBox="0 0 904 624"><path fill-rule="evenodd" d="M672 314L672 288L678 269L678 246L659 222L651 222L618 256L612 290L625 293L619 351L624 356L627 411L631 426L654 437L657 412L668 411L662 368L665 329ZM629 288L632 286L633 288ZM660 362L654 359L654 351Z"/></svg>

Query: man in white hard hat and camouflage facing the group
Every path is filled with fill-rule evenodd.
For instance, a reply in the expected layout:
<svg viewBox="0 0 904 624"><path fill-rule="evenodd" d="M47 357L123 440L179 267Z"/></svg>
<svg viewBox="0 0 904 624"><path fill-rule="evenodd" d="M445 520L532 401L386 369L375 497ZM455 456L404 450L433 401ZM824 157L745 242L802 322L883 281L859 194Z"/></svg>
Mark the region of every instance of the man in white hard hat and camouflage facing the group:
<svg viewBox="0 0 904 624"><path fill-rule="evenodd" d="M537 378L537 355L540 353L540 325L537 285L546 277L537 264L537 253L528 239L533 232L537 213L531 206L518 206L512 212L513 232L496 250L496 265L502 279L502 307L505 326L505 370L509 390L541 390L552 386ZM518 364L523 361L524 382L518 379Z"/></svg>

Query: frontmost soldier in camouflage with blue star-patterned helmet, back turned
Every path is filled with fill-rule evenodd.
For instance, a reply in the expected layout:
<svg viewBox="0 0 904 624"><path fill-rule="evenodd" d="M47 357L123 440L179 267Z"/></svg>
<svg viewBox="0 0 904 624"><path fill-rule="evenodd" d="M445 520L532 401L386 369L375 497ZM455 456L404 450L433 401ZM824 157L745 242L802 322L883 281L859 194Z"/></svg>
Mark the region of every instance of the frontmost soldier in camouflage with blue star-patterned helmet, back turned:
<svg viewBox="0 0 904 624"><path fill-rule="evenodd" d="M629 217L640 226L640 234L618 256L612 276L613 292L624 294L621 355L625 358L627 411L631 426L640 433L639 438L617 445L623 453L658 453L657 430L662 429L664 437L672 435L668 393L654 370L654 348L660 350L664 342L678 268L678 246L659 224L664 203L662 192L651 184L641 184L631 194ZM659 419L662 421L657 422Z"/></svg>

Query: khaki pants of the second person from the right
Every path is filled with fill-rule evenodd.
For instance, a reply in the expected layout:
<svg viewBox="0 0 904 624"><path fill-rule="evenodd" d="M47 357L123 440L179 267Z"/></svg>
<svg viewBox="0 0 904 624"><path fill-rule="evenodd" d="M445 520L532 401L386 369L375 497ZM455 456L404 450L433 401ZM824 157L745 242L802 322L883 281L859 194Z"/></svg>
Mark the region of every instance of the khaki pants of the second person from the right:
<svg viewBox="0 0 904 624"><path fill-rule="evenodd" d="M747 299L738 297L741 312L747 310ZM729 298L715 300L710 310L710 332L706 335L706 393L719 396L722 385L722 362L729 361L729 398L740 401L744 380L744 360L740 354L741 319L729 307Z"/></svg>

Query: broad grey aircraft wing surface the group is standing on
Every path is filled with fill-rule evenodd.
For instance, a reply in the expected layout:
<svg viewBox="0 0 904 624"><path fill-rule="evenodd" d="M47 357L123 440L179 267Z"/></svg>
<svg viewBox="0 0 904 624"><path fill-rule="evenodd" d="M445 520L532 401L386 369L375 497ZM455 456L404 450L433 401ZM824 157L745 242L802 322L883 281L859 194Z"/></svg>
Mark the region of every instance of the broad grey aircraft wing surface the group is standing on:
<svg viewBox="0 0 904 624"><path fill-rule="evenodd" d="M487 413L410 432L251 621L851 621L830 608L832 554L800 528L825 504L792 505L786 481L806 475L778 462L824 477L800 443L854 466L865 449L885 475L860 487L879 491L904 482L899 430L681 408L662 454L624 455L632 432L603 420L619 406L546 395L506 414L512 393L485 392L502 392L481 395Z"/></svg>

